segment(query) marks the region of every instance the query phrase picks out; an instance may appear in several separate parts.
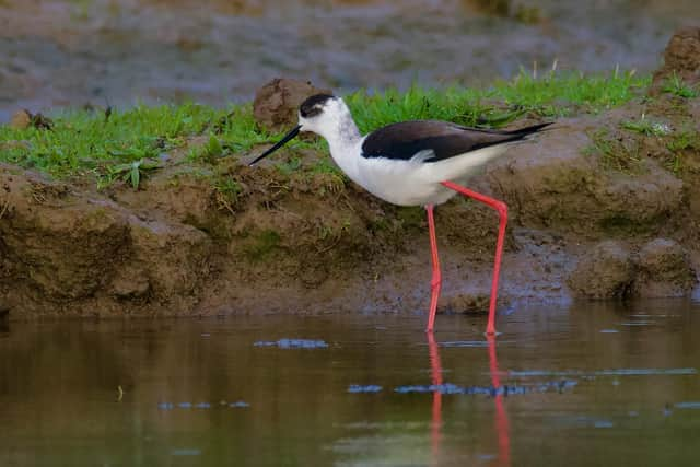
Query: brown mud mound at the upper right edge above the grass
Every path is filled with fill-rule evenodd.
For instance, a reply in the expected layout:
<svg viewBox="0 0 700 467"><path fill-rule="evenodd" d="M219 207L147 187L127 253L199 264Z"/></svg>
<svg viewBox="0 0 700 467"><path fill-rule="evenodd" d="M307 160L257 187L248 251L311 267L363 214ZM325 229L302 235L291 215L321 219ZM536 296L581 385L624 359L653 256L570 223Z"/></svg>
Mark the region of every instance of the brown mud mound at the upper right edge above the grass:
<svg viewBox="0 0 700 467"><path fill-rule="evenodd" d="M691 85L700 82L700 27L686 27L673 35L664 50L664 66L654 73L650 93L658 94L674 74Z"/></svg>

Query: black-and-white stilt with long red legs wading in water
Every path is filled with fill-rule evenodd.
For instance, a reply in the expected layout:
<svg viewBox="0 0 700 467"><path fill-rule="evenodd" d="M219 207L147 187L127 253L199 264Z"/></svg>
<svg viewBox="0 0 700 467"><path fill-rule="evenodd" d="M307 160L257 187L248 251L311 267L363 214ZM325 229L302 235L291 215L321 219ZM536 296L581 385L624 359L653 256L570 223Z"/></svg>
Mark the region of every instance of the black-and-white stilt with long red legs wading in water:
<svg viewBox="0 0 700 467"><path fill-rule="evenodd" d="M486 165L513 143L544 130L552 122L516 130L470 128L442 120L412 120L387 125L362 136L341 97L315 94L299 107L298 125L248 165L254 165L302 131L325 138L330 156L355 184L398 206L422 206L428 214L432 256L431 301L425 330L433 332L442 272L433 209L460 194L494 209L499 214L487 336L495 335L495 303L503 254L508 206L466 186Z"/></svg>

